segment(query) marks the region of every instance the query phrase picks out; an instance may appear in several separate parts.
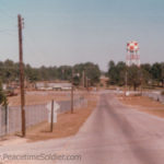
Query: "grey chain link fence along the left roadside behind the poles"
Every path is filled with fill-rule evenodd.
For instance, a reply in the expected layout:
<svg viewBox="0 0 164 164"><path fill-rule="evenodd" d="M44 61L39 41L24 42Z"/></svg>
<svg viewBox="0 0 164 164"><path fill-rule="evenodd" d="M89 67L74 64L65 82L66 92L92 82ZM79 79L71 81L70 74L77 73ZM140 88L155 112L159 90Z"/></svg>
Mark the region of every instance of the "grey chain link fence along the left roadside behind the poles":
<svg viewBox="0 0 164 164"><path fill-rule="evenodd" d="M71 109L71 101L57 102L60 108L58 114ZM74 98L74 108L86 107L87 101L84 97ZM25 106L26 128L48 120L47 104ZM15 133L22 129L21 107L0 107L0 137Z"/></svg>

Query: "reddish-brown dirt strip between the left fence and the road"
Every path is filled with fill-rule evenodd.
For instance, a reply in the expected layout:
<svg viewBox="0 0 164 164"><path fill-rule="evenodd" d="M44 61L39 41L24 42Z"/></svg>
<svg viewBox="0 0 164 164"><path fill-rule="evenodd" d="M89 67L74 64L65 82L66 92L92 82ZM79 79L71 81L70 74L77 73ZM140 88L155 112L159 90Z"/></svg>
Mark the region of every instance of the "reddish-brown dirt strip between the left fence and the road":
<svg viewBox="0 0 164 164"><path fill-rule="evenodd" d="M67 112L65 114L58 115L58 122L54 125L54 131L50 131L50 125L48 122L42 122L37 126L27 129L26 138L30 142L65 138L75 134L80 127L85 122L87 117L91 115L93 109L96 107L98 96L87 95L89 99L87 107L75 109L74 114Z"/></svg>

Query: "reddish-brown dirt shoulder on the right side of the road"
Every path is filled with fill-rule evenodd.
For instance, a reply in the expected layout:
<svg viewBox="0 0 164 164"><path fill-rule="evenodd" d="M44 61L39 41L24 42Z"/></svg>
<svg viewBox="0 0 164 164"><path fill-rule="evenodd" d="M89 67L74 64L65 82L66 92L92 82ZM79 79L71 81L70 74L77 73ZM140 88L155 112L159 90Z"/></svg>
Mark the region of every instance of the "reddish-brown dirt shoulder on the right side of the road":
<svg viewBox="0 0 164 164"><path fill-rule="evenodd" d="M119 95L118 99L129 107L164 118L164 104L150 97Z"/></svg>

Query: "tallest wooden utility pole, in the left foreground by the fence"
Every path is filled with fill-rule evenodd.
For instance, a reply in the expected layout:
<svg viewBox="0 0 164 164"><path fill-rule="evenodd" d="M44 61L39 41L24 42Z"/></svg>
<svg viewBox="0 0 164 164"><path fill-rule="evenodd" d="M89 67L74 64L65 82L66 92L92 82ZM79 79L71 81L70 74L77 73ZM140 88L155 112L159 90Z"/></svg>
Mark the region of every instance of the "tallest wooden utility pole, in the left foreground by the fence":
<svg viewBox="0 0 164 164"><path fill-rule="evenodd" d="M22 137L25 137L25 97L24 97L24 65L23 65L23 44L22 44L22 28L23 19L21 14L17 15L19 24L19 51L20 51L20 89L21 89L21 116L22 116Z"/></svg>

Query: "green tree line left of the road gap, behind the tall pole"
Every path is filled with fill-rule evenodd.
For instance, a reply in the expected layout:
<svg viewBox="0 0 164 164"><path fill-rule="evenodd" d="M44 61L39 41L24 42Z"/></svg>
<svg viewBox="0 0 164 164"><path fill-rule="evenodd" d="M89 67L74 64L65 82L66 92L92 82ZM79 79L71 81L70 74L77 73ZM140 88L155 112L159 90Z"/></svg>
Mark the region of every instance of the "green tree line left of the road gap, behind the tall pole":
<svg viewBox="0 0 164 164"><path fill-rule="evenodd" d="M45 80L65 80L71 81L72 70L74 84L79 85L82 81L83 71L85 78L90 80L91 85L95 85L99 81L101 70L97 65L92 62L79 63L73 67L39 67L34 68L30 65L24 65L25 79L30 82L45 81ZM19 62L12 60L0 61L0 80L4 83L11 81L19 81Z"/></svg>

